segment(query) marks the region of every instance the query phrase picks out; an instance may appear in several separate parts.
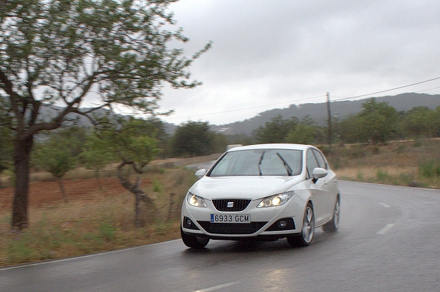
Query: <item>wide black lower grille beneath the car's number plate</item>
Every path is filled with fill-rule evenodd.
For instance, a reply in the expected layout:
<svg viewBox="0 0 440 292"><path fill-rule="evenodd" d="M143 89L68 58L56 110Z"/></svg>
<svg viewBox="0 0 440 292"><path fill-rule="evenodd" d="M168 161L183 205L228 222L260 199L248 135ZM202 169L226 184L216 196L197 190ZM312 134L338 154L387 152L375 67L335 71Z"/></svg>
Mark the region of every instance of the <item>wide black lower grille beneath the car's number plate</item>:
<svg viewBox="0 0 440 292"><path fill-rule="evenodd" d="M197 221L211 234L253 234L267 222L251 222L251 223L210 223L210 221Z"/></svg>

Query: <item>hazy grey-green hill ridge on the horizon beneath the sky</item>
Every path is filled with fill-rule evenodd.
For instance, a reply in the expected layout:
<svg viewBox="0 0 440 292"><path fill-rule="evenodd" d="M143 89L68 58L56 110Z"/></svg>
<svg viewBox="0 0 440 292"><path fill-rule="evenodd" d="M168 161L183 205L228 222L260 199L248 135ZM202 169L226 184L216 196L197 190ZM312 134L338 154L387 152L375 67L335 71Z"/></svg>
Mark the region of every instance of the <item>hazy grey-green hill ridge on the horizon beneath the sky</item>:
<svg viewBox="0 0 440 292"><path fill-rule="evenodd" d="M369 100L342 100L330 103L331 115L344 119L348 115L353 115L362 111L362 104ZM397 96L382 96L376 98L377 102L386 102L393 106L397 111L409 111L417 106L427 106L435 109L440 106L440 94L430 95L425 93L402 93ZM309 115L318 125L327 123L327 103L318 104L292 104L287 109L272 109L259 113L255 117L242 122L234 122L231 124L211 125L212 131L221 132L225 135L252 135L259 126L265 126L266 122L270 122L273 117L281 115L284 119L289 117L298 117L301 119Z"/></svg>

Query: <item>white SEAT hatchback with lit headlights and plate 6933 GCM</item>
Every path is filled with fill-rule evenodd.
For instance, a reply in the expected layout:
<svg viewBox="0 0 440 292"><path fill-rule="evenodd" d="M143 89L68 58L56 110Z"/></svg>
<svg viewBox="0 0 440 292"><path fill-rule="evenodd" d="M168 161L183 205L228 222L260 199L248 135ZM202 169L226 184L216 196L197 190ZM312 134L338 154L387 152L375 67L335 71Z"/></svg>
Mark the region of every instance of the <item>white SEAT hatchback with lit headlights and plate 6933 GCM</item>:
<svg viewBox="0 0 440 292"><path fill-rule="evenodd" d="M340 194L318 148L260 144L226 151L199 177L181 208L181 238L192 248L210 239L276 240L307 246L315 228L335 232Z"/></svg>

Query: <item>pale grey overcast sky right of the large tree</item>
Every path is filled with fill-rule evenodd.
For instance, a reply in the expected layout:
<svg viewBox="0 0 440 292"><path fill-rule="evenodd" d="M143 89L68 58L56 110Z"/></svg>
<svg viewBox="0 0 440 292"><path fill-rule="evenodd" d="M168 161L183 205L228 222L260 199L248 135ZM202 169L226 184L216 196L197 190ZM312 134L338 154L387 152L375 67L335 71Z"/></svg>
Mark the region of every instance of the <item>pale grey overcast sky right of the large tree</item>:
<svg viewBox="0 0 440 292"><path fill-rule="evenodd" d="M290 104L362 96L440 77L440 1L181 0L196 89L164 89L173 124L227 124ZM373 96L440 93L440 79ZM370 96L366 96L370 97ZM366 98L364 97L364 98Z"/></svg>

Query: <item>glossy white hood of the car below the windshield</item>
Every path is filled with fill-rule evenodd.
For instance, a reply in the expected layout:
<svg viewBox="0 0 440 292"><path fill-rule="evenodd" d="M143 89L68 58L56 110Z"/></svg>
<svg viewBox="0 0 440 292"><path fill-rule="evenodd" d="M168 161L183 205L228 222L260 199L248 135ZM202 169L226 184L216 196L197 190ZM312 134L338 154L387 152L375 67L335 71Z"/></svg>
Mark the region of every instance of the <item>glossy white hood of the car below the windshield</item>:
<svg viewBox="0 0 440 292"><path fill-rule="evenodd" d="M303 177L202 177L190 192L204 199L261 199L289 190Z"/></svg>

